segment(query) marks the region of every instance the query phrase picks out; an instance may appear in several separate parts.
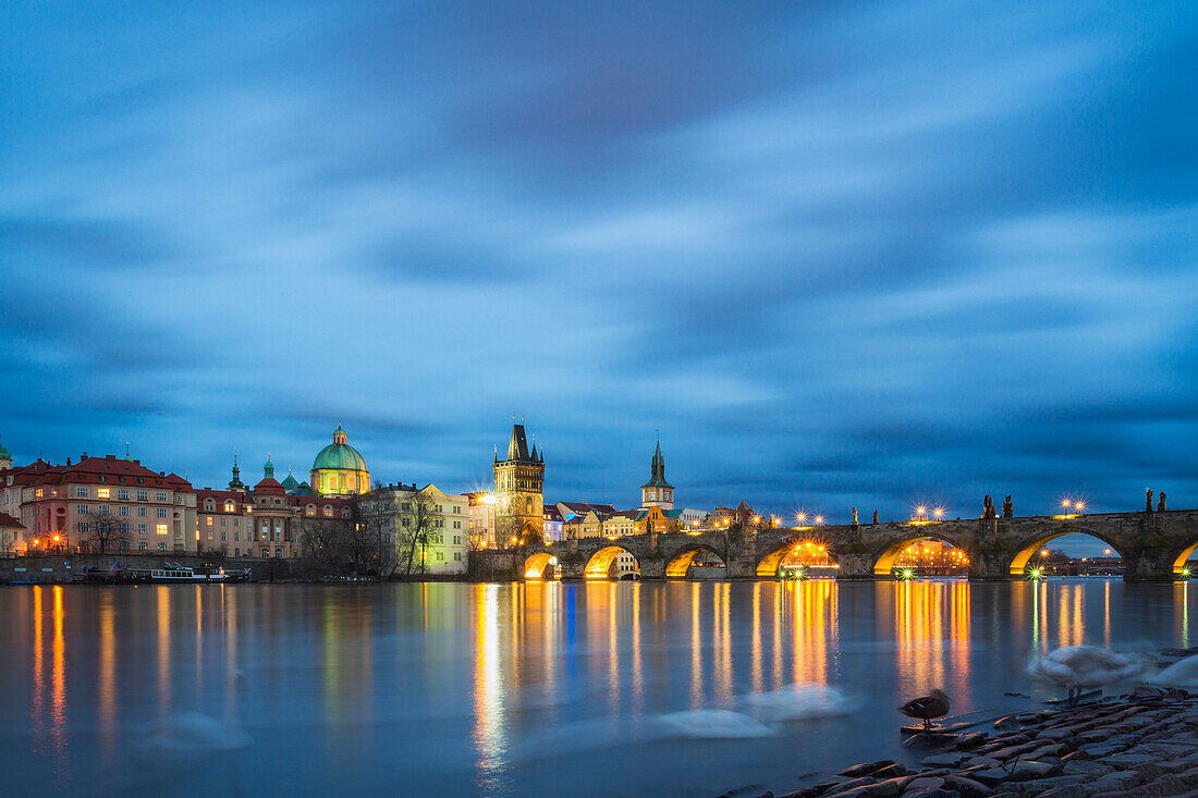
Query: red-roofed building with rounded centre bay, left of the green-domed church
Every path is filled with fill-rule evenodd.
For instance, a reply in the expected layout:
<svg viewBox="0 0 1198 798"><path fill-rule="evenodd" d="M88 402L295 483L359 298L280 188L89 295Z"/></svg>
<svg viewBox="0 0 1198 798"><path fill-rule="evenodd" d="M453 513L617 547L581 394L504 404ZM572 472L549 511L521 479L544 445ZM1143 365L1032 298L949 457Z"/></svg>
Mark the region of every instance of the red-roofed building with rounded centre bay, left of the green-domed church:
<svg viewBox="0 0 1198 798"><path fill-rule="evenodd" d="M291 492L286 480L274 478L274 464L267 459L262 479L247 489L234 459L228 490L204 488L195 494L199 550L231 557L296 558L302 554L304 525L349 522L347 498L304 491L304 483L289 479L296 485Z"/></svg>

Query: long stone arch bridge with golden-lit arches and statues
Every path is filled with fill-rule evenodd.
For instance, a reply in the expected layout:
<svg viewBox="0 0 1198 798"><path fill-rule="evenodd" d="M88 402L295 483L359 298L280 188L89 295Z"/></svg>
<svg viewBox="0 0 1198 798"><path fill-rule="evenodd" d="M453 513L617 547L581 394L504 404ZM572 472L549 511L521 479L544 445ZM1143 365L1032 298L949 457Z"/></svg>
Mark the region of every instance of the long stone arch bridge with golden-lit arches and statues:
<svg viewBox="0 0 1198 798"><path fill-rule="evenodd" d="M732 526L694 532L582 538L551 545L472 551L470 573L539 578L553 564L564 580L604 578L615 557L636 557L641 579L684 579L701 552L718 556L728 579L773 579L798 544L825 546L837 579L890 579L898 554L913 543L943 540L969 560L972 580L1022 579L1031 556L1064 534L1090 534L1117 551L1130 581L1184 579L1198 548L1198 510L1033 515L956 521L902 521L801 528Z"/></svg>

